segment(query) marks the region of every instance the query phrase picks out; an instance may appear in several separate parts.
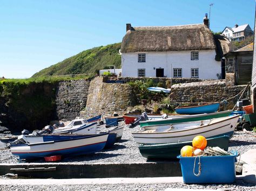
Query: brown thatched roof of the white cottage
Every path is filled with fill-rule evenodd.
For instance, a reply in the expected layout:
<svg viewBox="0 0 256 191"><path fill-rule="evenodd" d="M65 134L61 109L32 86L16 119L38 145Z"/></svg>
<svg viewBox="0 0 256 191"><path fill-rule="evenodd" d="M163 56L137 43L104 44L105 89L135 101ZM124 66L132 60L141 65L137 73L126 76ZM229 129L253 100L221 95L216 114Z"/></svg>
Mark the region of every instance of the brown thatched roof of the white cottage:
<svg viewBox="0 0 256 191"><path fill-rule="evenodd" d="M162 52L215 49L213 34L204 24L131 27L121 52Z"/></svg>

